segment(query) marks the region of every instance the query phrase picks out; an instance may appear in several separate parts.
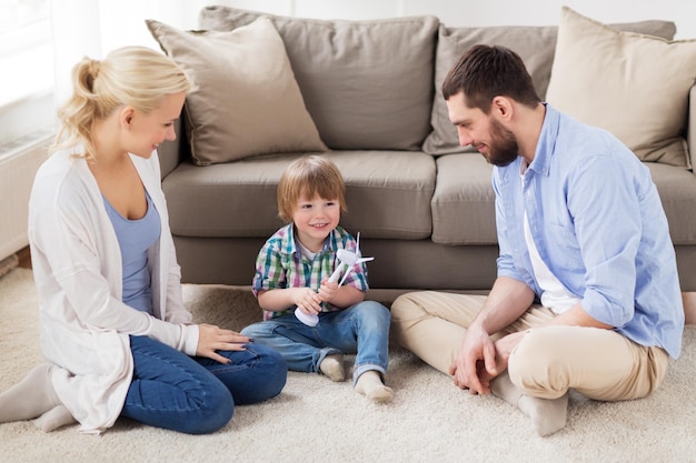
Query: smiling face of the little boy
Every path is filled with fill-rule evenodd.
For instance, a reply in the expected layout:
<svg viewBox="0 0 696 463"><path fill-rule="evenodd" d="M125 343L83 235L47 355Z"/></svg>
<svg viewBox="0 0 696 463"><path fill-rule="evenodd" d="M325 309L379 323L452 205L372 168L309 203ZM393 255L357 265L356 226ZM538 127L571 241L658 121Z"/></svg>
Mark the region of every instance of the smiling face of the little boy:
<svg viewBox="0 0 696 463"><path fill-rule="evenodd" d="M295 205L292 222L299 241L311 252L318 252L324 241L338 225L340 204L338 199L302 195Z"/></svg>

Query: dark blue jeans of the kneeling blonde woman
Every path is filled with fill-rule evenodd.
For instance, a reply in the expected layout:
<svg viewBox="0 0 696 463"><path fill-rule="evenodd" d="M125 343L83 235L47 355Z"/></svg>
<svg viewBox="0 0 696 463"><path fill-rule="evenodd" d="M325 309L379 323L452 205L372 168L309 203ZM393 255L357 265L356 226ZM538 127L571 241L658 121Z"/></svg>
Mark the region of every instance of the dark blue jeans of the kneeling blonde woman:
<svg viewBox="0 0 696 463"><path fill-rule="evenodd" d="M121 416L188 434L226 425L235 405L280 393L287 365L275 351L250 343L219 351L230 363L188 356L147 336L130 336L135 371Z"/></svg>

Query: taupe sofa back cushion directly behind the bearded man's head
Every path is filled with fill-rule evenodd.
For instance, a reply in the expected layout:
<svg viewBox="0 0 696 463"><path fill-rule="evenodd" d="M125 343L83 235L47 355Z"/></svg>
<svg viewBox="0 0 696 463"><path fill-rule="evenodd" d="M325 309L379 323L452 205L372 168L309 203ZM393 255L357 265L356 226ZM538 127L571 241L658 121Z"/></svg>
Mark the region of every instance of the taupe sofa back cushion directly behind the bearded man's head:
<svg viewBox="0 0 696 463"><path fill-rule="evenodd" d="M615 24L619 30L636 31L670 40L676 33L674 22L640 21ZM439 28L435 61L435 101L432 103L432 132L422 150L430 154L475 152L471 147L460 147L457 130L449 121L443 98L443 81L461 53L476 43L498 44L517 52L527 66L539 98L545 99L554 62L558 27L483 27ZM591 56L591 53L589 54Z"/></svg>

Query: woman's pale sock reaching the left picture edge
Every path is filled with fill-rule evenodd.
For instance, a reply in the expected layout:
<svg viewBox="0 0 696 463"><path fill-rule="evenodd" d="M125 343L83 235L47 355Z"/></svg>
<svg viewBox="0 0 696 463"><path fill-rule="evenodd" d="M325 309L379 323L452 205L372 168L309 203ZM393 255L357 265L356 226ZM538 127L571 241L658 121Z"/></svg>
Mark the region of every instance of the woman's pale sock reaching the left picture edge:
<svg viewBox="0 0 696 463"><path fill-rule="evenodd" d="M62 405L51 382L53 365L37 365L22 381L0 394L0 423L32 420Z"/></svg>

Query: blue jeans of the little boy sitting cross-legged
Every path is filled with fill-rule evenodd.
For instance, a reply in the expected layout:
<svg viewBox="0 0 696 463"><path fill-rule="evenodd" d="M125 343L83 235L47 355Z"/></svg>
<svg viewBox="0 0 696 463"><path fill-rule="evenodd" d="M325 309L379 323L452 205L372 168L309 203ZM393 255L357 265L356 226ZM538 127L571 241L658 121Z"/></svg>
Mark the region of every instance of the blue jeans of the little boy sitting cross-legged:
<svg viewBox="0 0 696 463"><path fill-rule="evenodd" d="M318 373L327 355L357 353L355 383L368 370L378 371L382 378L386 374L390 320L382 304L364 301L341 311L319 313L316 326L288 314L249 325L241 333L280 352L292 371Z"/></svg>

